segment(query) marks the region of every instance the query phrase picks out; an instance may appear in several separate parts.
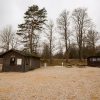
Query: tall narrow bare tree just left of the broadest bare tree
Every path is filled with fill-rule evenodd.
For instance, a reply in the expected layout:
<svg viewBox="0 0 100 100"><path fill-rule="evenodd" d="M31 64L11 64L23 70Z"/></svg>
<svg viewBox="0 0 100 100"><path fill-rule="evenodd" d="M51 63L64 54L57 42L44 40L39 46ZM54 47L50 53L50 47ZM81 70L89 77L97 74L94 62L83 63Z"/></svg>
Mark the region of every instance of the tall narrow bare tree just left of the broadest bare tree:
<svg viewBox="0 0 100 100"><path fill-rule="evenodd" d="M58 28L60 30L61 36L65 42L65 47L66 47L66 51L65 51L65 56L66 56L66 62L68 62L68 40L69 40L69 24L70 24L70 16L69 16L69 12L66 10L64 10L59 18L57 19L57 25Z"/></svg>

